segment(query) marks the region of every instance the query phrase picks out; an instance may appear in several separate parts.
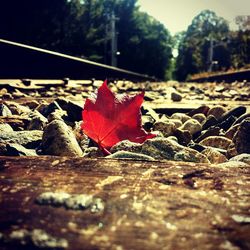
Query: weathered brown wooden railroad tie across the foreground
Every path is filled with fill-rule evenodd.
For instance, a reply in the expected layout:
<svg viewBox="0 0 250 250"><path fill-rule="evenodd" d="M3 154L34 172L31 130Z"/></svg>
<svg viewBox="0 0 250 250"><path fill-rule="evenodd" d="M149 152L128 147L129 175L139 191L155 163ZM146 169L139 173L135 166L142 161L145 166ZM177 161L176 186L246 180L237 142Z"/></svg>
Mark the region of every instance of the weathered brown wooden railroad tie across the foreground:
<svg viewBox="0 0 250 250"><path fill-rule="evenodd" d="M249 190L247 167L0 157L0 232L43 229L72 250L250 249ZM104 210L36 204L47 191L92 194Z"/></svg>

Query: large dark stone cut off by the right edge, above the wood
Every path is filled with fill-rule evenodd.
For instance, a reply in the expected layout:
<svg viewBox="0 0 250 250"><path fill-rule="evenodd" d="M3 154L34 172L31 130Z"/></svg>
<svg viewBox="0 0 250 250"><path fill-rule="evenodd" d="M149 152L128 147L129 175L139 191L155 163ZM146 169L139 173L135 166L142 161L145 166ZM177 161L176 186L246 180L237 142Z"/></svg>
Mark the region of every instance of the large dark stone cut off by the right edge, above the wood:
<svg viewBox="0 0 250 250"><path fill-rule="evenodd" d="M241 122L233 142L238 154L250 153L250 118Z"/></svg>

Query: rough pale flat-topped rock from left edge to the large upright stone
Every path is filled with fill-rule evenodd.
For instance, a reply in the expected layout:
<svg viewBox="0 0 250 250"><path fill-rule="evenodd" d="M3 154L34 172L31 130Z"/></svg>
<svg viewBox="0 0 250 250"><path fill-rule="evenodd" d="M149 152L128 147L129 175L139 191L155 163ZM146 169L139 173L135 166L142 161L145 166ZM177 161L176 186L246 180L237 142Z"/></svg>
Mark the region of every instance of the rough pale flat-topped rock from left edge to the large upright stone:
<svg viewBox="0 0 250 250"><path fill-rule="evenodd" d="M43 132L40 130L24 130L0 133L1 143L16 143L26 148L36 148L42 140Z"/></svg>

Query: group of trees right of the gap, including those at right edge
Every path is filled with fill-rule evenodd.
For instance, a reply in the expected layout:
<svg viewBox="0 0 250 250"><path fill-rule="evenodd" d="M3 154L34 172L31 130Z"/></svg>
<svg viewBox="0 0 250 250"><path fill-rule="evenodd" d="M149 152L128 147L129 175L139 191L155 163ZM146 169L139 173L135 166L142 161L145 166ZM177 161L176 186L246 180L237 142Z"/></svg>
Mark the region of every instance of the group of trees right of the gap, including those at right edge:
<svg viewBox="0 0 250 250"><path fill-rule="evenodd" d="M197 15L186 32L175 36L175 42L178 80L202 72L250 67L250 30L231 31L228 22L213 11Z"/></svg>

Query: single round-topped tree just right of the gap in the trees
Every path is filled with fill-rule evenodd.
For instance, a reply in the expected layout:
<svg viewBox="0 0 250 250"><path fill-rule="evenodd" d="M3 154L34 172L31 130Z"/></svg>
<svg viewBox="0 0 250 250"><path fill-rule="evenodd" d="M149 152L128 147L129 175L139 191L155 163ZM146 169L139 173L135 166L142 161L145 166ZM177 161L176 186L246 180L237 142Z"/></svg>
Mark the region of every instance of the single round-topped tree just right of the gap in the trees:
<svg viewBox="0 0 250 250"><path fill-rule="evenodd" d="M228 34L227 21L213 11L204 10L196 16L179 43L177 78L185 80L191 74L207 71L213 61L218 61L218 69L228 68L229 50L222 42Z"/></svg>

